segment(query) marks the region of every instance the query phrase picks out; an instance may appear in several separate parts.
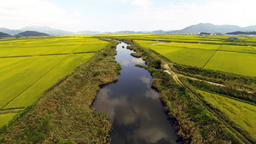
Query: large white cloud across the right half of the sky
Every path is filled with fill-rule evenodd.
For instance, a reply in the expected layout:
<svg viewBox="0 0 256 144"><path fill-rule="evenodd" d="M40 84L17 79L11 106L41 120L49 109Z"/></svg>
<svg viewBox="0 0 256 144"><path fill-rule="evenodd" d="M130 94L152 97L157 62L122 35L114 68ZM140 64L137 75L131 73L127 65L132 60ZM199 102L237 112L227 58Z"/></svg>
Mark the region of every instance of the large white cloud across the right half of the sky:
<svg viewBox="0 0 256 144"><path fill-rule="evenodd" d="M253 0L215 0L205 3L166 3L165 6L137 10L125 17L131 18L143 30L173 30L198 23L250 26L256 24ZM136 23L137 22L137 23ZM135 26L136 28L136 26ZM137 30L142 31L142 30Z"/></svg>

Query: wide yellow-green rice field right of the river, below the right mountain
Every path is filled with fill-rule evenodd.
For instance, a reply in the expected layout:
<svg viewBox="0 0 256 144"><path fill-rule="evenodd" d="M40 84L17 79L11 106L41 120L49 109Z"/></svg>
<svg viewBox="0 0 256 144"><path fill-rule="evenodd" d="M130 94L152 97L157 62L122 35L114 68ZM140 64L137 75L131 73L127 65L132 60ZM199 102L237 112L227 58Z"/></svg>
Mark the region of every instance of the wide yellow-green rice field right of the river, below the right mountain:
<svg viewBox="0 0 256 144"><path fill-rule="evenodd" d="M254 37L241 37L241 42L224 42L224 37L212 36L212 40L221 43L193 43L193 40L202 40L200 37L184 36L190 37L186 43L182 42L184 39L175 43L170 42L174 36L170 36L169 39L167 36L165 40L159 39L159 36L155 36L154 41L140 40L137 37L134 37L134 40L144 48L153 49L179 64L256 77L256 49L244 43L249 41L256 44L253 41ZM178 36L173 39L177 40Z"/></svg>

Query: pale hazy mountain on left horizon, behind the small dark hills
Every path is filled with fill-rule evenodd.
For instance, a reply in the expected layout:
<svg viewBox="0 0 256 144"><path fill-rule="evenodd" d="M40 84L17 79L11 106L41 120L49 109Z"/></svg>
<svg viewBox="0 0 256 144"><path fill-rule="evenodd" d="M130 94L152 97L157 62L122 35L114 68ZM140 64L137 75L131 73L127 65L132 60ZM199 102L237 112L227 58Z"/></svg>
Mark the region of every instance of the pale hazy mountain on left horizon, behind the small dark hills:
<svg viewBox="0 0 256 144"><path fill-rule="evenodd" d="M47 26L27 26L24 28L21 28L20 31L36 31L36 32L43 32L47 33L49 35L68 35L68 34L74 34L73 32L58 30L54 28L50 28Z"/></svg>

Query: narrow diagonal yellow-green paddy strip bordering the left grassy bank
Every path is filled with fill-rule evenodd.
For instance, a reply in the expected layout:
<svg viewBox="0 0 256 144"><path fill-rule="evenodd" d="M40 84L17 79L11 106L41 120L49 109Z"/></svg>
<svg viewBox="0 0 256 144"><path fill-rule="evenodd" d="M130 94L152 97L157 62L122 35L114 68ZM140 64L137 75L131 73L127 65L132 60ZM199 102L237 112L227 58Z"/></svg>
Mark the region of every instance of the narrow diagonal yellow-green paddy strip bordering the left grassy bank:
<svg viewBox="0 0 256 144"><path fill-rule="evenodd" d="M78 66L79 63L89 60L92 55L94 54L68 55L64 56L64 58L56 65L50 66L47 63L48 65L46 65L46 67L50 66L49 71L44 73L43 77L39 77L36 83L33 82L29 89L22 91L21 95L15 98L14 101L11 101L6 107L3 107L3 109L27 107L31 105L33 102L38 100L45 89L48 89L66 74L73 72L74 68Z"/></svg>

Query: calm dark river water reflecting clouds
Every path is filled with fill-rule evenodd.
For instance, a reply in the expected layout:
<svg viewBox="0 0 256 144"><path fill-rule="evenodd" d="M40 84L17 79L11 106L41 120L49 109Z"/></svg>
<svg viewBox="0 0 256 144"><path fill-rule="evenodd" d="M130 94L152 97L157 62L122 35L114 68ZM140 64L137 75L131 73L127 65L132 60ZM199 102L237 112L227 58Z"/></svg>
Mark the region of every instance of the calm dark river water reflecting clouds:
<svg viewBox="0 0 256 144"><path fill-rule="evenodd" d="M117 83L102 88L93 107L107 112L113 124L113 144L177 143L177 133L160 102L160 95L151 88L150 73L135 64L144 64L132 57L131 50L117 46L115 56L122 66Z"/></svg>

